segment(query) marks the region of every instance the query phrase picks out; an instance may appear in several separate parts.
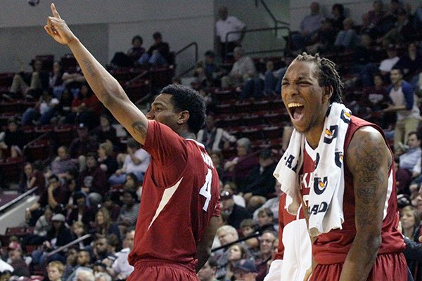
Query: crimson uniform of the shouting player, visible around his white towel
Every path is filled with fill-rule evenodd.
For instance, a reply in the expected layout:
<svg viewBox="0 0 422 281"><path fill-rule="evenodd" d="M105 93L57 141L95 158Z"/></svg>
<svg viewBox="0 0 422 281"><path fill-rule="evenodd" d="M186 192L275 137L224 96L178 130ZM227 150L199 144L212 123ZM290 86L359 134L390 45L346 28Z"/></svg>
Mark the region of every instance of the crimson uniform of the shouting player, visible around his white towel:
<svg viewBox="0 0 422 281"><path fill-rule="evenodd" d="M383 132L381 129L369 122L353 117L347 129L345 137L344 151L352 140L352 136L357 129L362 126L373 126L373 128ZM314 183L313 178L315 168L316 151L305 142L304 162L301 171L301 192L304 200L307 202L310 187ZM346 157L344 157L346 159ZM345 163L345 193L343 200L343 213L345 221L343 229L333 229L328 233L323 233L316 237L312 245L312 254L318 266L314 269L311 280L336 281L340 278L347 253L356 235L354 226L354 188L353 176L347 169ZM385 200L383 226L381 230L381 247L378 250L378 256L374 263L373 270L369 274L368 280L407 280L407 264L402 251L405 247L402 235L397 231L399 216L397 214L397 193L395 189L395 173L393 164L388 173L388 192Z"/></svg>

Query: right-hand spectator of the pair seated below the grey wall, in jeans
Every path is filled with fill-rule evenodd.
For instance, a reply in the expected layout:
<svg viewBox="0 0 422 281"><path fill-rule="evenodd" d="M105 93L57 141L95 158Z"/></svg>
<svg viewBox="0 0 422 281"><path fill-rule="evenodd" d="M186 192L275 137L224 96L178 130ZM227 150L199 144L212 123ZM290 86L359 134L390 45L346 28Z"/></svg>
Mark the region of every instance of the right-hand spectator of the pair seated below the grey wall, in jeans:
<svg viewBox="0 0 422 281"><path fill-rule="evenodd" d="M170 63L170 47L168 43L162 41L160 32L153 34L154 43L148 48L148 52L143 53L139 58L139 65L150 64L153 66L167 65Z"/></svg>

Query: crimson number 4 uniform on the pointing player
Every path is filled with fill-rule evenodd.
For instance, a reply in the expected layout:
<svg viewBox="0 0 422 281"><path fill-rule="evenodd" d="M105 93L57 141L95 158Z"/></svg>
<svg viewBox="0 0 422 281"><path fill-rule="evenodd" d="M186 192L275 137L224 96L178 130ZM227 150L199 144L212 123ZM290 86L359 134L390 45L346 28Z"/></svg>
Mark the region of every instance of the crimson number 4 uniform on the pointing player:
<svg viewBox="0 0 422 281"><path fill-rule="evenodd" d="M204 146L150 121L143 149L151 164L127 280L197 280L196 245L219 216L219 178Z"/></svg>

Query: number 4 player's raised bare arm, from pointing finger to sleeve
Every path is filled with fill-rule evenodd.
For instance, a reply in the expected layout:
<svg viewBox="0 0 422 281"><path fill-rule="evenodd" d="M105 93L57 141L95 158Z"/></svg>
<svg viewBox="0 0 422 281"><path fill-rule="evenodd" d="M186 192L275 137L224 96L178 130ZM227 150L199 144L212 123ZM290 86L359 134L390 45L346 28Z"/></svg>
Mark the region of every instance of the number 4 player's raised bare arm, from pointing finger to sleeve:
<svg viewBox="0 0 422 281"><path fill-rule="evenodd" d="M51 12L53 16L47 18L47 25L44 26L46 32L58 43L70 48L98 100L110 110L136 141L145 143L148 129L145 115L129 100L119 82L75 37L66 22L60 18L54 4L51 4Z"/></svg>

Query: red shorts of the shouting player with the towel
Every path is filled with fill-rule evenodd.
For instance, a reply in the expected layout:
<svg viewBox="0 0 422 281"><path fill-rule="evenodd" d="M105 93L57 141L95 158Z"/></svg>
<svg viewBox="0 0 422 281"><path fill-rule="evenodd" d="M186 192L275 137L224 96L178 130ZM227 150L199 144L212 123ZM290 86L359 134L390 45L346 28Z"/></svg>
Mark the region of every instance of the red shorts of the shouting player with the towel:
<svg viewBox="0 0 422 281"><path fill-rule="evenodd" d="M343 263L319 264L312 273L311 281L338 281ZM407 263L404 255L378 255L366 281L407 281Z"/></svg>

